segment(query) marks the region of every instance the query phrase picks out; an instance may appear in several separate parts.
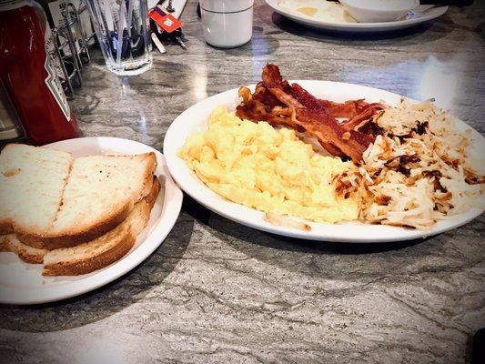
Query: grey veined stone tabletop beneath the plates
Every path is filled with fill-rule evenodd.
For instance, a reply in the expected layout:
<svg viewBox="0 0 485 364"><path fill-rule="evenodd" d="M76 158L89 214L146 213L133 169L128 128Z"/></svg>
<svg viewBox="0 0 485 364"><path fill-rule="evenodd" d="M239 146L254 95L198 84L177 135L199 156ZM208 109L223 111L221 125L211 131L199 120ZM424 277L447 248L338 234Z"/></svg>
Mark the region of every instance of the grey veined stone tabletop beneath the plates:
<svg viewBox="0 0 485 364"><path fill-rule="evenodd" d="M161 150L188 106L257 82L277 63L292 79L375 86L435 97L485 132L485 12L451 8L390 35L315 32L255 2L251 43L206 45L187 5L187 52L167 46L142 76L118 78L98 52L72 102L86 136L120 136ZM479 217L438 237L345 245L269 235L185 197L164 244L116 282L79 298L0 307L2 362L470 361L485 327Z"/></svg>

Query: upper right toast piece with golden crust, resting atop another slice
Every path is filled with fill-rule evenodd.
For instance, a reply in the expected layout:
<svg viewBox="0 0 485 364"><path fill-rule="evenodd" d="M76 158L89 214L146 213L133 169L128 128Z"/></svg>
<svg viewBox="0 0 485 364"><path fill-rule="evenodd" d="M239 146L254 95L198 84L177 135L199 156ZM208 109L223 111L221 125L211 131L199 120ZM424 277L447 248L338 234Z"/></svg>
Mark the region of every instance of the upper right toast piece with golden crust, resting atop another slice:
<svg viewBox="0 0 485 364"><path fill-rule="evenodd" d="M120 225L152 189L155 153L76 158L56 219L48 230L15 229L34 248L69 248Z"/></svg>

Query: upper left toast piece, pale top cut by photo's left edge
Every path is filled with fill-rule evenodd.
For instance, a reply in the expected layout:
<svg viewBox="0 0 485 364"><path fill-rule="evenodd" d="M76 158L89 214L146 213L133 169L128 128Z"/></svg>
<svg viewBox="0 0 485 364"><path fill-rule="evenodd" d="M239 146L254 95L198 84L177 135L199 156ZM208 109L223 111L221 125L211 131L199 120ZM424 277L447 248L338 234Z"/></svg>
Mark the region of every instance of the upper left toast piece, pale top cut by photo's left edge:
<svg viewBox="0 0 485 364"><path fill-rule="evenodd" d="M43 147L10 144L0 154L0 234L46 232L61 204L72 157Z"/></svg>

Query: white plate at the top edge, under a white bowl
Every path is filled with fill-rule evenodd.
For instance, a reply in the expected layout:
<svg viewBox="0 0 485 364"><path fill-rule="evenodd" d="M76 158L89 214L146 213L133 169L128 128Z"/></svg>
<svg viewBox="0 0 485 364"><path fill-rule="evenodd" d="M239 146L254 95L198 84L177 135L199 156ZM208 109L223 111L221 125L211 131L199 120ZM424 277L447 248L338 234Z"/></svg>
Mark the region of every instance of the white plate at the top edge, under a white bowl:
<svg viewBox="0 0 485 364"><path fill-rule="evenodd" d="M370 33L370 32L389 32L392 30L404 29L413 25L419 25L429 20L435 19L448 11L448 6L436 6L426 11L422 11L419 7L413 11L413 15L409 19L397 20L394 22L385 23L337 23L326 22L314 17L304 15L296 10L291 10L280 6L284 0L266 0L266 3L273 8L277 13L288 17L289 19L302 24L325 30L337 30L354 33ZM322 0L323 1L323 0ZM425 9L421 7L421 9Z"/></svg>

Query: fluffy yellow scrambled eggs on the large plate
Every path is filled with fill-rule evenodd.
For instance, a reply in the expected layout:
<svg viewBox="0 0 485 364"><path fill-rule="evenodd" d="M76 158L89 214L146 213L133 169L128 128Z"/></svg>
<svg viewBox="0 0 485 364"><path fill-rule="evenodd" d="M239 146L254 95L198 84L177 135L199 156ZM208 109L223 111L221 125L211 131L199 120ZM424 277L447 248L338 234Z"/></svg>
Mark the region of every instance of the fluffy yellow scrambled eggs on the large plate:
<svg viewBox="0 0 485 364"><path fill-rule="evenodd" d="M337 197L332 177L349 168L323 157L294 130L253 123L217 107L208 130L187 138L179 157L217 194L260 211L318 222L353 220L359 205Z"/></svg>

